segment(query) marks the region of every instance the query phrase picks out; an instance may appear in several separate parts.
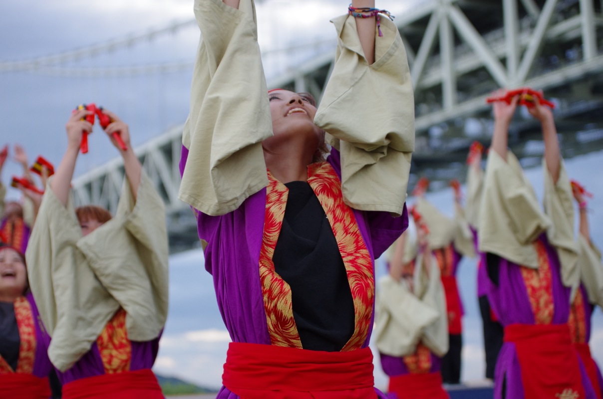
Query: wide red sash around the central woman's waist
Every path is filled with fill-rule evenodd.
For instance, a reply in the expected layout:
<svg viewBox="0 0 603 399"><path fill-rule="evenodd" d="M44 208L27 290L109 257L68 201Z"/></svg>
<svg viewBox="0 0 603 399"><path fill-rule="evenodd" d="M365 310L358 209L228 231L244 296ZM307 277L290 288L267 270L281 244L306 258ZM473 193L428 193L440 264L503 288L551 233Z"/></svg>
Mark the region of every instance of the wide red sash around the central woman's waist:
<svg viewBox="0 0 603 399"><path fill-rule="evenodd" d="M370 399L373 354L231 342L222 383L244 399Z"/></svg>

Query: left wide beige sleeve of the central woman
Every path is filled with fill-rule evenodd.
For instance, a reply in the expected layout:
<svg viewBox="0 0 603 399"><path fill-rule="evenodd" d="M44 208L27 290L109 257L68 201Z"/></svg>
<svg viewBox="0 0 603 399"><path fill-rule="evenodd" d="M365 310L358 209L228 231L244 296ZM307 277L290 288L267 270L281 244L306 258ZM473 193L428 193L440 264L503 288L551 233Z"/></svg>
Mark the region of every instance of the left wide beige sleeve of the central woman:
<svg viewBox="0 0 603 399"><path fill-rule="evenodd" d="M178 198L209 215L238 208L268 184L262 140L272 136L255 8L195 0L201 30L182 136L188 149Z"/></svg>

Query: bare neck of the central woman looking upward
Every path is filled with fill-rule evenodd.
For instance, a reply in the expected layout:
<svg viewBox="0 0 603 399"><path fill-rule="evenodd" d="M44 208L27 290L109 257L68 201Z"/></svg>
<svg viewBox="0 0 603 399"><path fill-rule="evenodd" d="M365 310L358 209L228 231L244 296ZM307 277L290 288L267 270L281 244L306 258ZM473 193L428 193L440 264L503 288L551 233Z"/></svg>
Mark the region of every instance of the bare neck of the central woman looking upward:
<svg viewBox="0 0 603 399"><path fill-rule="evenodd" d="M276 151L264 148L264 160L270 173L281 183L308 181L308 165L312 163L314 151L312 148L300 151L300 146L293 142L280 143Z"/></svg>

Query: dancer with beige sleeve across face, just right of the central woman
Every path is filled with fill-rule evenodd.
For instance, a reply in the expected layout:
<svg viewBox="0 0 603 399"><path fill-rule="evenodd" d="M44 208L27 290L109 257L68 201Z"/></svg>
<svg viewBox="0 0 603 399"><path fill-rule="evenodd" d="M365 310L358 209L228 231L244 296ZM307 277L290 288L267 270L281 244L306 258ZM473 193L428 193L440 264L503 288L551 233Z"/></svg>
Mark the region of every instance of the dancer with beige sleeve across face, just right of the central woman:
<svg viewBox="0 0 603 399"><path fill-rule="evenodd" d="M388 250L389 273L377 286L375 343L390 377L388 397L446 399L440 374L448 350L446 301L428 230L417 219L417 242L405 231Z"/></svg>

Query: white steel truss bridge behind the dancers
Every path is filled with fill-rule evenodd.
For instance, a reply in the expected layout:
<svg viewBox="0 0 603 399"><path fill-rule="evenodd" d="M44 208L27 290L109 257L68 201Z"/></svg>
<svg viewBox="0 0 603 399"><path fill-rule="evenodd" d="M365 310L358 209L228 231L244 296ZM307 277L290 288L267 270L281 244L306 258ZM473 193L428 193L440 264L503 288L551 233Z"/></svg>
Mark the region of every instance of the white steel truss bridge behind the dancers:
<svg viewBox="0 0 603 399"><path fill-rule="evenodd" d="M530 86L548 97L558 92L568 99L559 104L559 118L571 119L580 110L603 112L602 3L437 0L397 16L415 87L417 137L425 137L417 139L414 162L429 162L434 154L429 138L434 126L452 127L446 129L449 151L466 148L475 137L464 137L455 124L459 118L490 118L485 98L497 87ZM320 99L332 61L333 54L317 56L269 86L308 91ZM573 106L576 102L579 107ZM136 149L165 200L172 250L197 242L192 213L177 199L181 137L182 126L175 127ZM438 151L446 159L441 156L446 146ZM417 166L421 168L415 163L414 174ZM87 172L74 181L76 203L114 211L122 176L121 160Z"/></svg>

